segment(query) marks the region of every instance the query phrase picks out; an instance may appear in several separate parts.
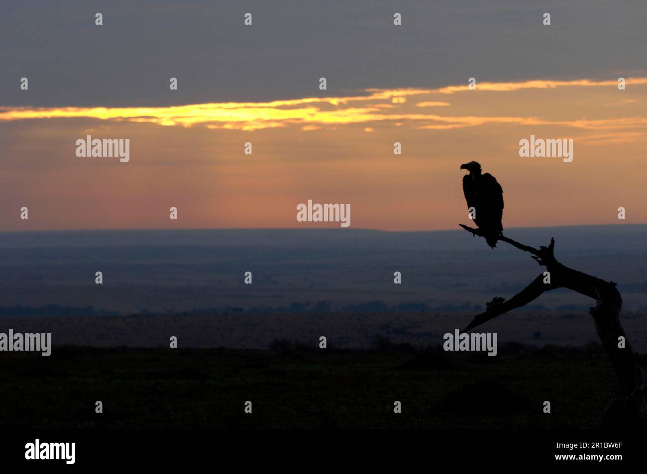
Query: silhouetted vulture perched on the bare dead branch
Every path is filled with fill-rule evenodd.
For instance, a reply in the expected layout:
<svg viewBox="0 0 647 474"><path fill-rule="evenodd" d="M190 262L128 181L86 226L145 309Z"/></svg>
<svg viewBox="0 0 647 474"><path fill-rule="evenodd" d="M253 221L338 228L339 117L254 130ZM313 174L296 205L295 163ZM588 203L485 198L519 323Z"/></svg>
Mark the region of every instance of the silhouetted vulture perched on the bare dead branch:
<svg viewBox="0 0 647 474"><path fill-rule="evenodd" d="M481 165L470 161L461 165L470 172L463 177L463 193L468 208L474 208L474 222L483 232L487 244L494 248L503 232L503 189L490 173L481 174Z"/></svg>

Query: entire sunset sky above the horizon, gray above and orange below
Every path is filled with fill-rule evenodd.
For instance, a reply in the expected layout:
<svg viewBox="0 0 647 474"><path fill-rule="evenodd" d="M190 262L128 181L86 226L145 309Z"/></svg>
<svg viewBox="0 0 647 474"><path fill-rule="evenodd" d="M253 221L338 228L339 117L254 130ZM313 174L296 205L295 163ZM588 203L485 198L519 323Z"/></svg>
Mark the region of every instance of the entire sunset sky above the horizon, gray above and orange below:
<svg viewBox="0 0 647 474"><path fill-rule="evenodd" d="M475 4L10 7L0 231L340 227L297 222L309 199L350 204L351 228L455 229L470 160L504 228L647 222L644 3ZM128 138L130 161L76 156L87 135ZM573 162L521 158L531 135L572 138Z"/></svg>

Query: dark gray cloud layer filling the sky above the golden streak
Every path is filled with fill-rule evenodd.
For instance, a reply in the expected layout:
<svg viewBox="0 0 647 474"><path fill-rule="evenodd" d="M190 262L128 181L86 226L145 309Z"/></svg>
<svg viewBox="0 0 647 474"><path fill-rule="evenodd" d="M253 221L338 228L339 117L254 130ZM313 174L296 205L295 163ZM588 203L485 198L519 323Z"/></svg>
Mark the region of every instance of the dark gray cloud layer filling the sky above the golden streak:
<svg viewBox="0 0 647 474"><path fill-rule="evenodd" d="M104 26L94 26L94 14ZM243 26L251 12L252 27ZM393 26L393 13L402 27ZM542 26L550 12L551 27ZM643 74L647 3L27 1L0 16L1 105L256 101ZM29 91L19 89L27 76ZM171 92L168 80L179 79Z"/></svg>

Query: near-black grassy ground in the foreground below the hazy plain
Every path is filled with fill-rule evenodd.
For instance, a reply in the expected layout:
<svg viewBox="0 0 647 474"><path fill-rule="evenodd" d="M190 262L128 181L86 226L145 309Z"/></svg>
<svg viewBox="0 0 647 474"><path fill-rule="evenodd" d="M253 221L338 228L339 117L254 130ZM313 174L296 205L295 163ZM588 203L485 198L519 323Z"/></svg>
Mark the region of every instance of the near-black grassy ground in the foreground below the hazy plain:
<svg viewBox="0 0 647 474"><path fill-rule="evenodd" d="M366 351L272 347L5 352L0 427L599 428L615 383L596 346L510 345L490 358L388 341Z"/></svg>

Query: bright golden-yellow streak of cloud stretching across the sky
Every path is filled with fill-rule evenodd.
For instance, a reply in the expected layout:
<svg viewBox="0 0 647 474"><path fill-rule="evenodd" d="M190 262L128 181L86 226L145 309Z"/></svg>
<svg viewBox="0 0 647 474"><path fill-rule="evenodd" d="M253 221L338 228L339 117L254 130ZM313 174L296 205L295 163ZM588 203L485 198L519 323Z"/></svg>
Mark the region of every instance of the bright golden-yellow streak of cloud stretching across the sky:
<svg viewBox="0 0 647 474"><path fill-rule="evenodd" d="M628 78L627 85L643 94L647 78ZM298 126L304 130L333 125L369 124L369 122L397 122L408 124L414 129L455 129L477 127L487 124L520 125L562 125L579 129L610 130L626 127L644 128L647 118L642 116L613 118L568 118L555 120L545 114L529 115L491 114L425 114L417 108L443 107L449 111L479 107L464 100L455 105L448 102L430 100L439 94L467 92L465 99L470 100L478 92L520 93L529 89L590 88L607 87L612 90L617 81L550 81L534 80L518 83L479 83L477 91L470 91L468 85L452 85L439 89L366 89L359 94L343 97L309 97L270 102L225 102L173 105L168 107L0 107L0 121L43 120L52 118L93 118L98 120L152 123L162 126L205 125L209 129L254 131L259 129ZM420 102L415 105L407 102L415 97ZM482 97L482 96L481 96ZM622 102L624 101L624 102ZM634 103L635 98L623 98L622 103ZM525 110L534 110L524 107Z"/></svg>

